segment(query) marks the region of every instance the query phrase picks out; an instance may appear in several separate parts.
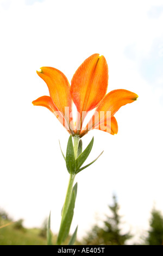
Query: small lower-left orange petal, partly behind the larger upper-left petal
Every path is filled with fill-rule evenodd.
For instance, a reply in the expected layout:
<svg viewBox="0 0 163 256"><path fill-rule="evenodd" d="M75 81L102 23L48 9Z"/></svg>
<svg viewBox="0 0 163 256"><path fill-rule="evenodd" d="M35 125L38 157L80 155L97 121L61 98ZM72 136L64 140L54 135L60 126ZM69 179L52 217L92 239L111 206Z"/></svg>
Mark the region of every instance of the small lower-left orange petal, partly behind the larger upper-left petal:
<svg viewBox="0 0 163 256"><path fill-rule="evenodd" d="M58 118L58 120L66 128L66 130L69 132L68 125L65 121L65 117L62 115L60 111L58 111L57 107L55 107L51 97L42 96L42 97L39 97L37 100L34 100L32 103L34 106L42 106L42 107L48 108L55 115L55 117Z"/></svg>

